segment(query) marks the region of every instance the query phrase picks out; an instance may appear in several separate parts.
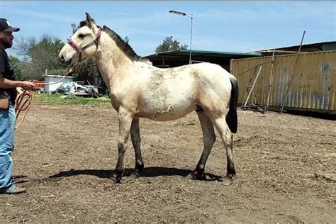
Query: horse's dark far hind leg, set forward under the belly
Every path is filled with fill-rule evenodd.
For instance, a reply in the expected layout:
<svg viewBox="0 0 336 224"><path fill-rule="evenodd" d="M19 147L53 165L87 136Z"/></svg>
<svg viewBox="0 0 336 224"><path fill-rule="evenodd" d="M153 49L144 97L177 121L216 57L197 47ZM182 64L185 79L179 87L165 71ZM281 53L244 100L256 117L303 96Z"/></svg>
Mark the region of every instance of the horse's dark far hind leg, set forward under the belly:
<svg viewBox="0 0 336 224"><path fill-rule="evenodd" d="M188 178L191 179L200 179L203 177L206 161L208 160L208 156L211 152L213 144L215 143L215 131L213 130L213 123L208 118L208 116L206 116L203 110L198 111L197 115L203 131L204 149L196 169L188 176Z"/></svg>

